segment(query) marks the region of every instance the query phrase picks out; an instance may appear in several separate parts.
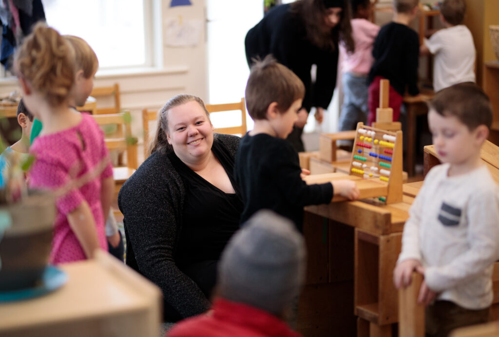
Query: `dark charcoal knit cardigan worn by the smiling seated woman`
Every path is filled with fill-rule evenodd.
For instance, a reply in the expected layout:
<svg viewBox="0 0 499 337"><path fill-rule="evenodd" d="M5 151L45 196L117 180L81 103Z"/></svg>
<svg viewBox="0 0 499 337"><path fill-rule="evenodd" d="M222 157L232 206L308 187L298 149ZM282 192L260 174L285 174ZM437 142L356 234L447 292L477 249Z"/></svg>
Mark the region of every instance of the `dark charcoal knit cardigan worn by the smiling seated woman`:
<svg viewBox="0 0 499 337"><path fill-rule="evenodd" d="M239 141L236 136L215 134L213 147L234 159ZM118 194L124 215L126 264L161 288L167 320L198 315L210 308L202 290L177 265L188 193L168 155L155 152Z"/></svg>

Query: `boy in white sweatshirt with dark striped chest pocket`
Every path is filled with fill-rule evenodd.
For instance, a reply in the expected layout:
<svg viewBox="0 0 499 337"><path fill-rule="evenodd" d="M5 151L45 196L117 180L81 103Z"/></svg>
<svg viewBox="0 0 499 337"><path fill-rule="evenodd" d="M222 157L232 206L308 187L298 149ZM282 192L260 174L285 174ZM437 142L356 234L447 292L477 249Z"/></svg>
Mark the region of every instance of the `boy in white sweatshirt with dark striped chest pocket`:
<svg viewBox="0 0 499 337"><path fill-rule="evenodd" d="M438 92L429 108L444 164L431 169L411 206L394 283L406 287L413 271L423 274L418 302L428 305L427 336L447 336L489 319L499 190L480 159L492 123L487 95L473 83L456 84Z"/></svg>

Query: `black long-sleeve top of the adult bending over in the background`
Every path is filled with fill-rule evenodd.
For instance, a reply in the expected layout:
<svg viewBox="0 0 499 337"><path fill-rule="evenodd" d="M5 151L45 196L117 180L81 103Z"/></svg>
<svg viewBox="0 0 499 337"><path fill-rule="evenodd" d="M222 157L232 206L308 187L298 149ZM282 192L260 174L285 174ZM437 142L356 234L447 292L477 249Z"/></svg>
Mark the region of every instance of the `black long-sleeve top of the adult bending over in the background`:
<svg viewBox="0 0 499 337"><path fill-rule="evenodd" d="M275 59L291 69L305 85L303 107L327 109L336 86L338 43L334 50L322 50L307 39L303 19L293 12L289 4L272 8L246 34L246 58L272 54ZM312 83L310 69L317 65L316 79Z"/></svg>

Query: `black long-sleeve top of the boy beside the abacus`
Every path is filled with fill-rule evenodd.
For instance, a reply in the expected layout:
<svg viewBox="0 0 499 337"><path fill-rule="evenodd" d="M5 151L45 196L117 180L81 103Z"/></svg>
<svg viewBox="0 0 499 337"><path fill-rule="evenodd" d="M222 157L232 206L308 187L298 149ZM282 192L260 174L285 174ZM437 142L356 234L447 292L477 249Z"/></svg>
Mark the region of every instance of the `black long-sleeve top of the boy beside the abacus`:
<svg viewBox="0 0 499 337"><path fill-rule="evenodd" d="M298 154L286 140L267 134L243 137L234 174L245 204L241 223L259 209L271 209L301 230L303 207L329 203L333 186L307 185L300 173Z"/></svg>

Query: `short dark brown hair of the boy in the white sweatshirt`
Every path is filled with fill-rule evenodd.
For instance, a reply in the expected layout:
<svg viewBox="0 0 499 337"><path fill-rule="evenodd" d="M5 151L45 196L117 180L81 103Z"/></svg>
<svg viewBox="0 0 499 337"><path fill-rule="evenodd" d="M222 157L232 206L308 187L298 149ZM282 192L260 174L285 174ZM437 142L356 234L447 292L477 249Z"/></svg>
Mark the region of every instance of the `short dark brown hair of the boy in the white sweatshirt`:
<svg viewBox="0 0 499 337"><path fill-rule="evenodd" d="M480 125L491 128L492 106L489 97L473 82L442 89L428 103L429 109L442 116L455 116L473 131Z"/></svg>

